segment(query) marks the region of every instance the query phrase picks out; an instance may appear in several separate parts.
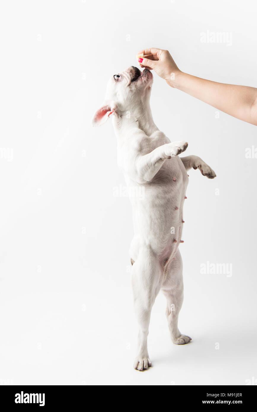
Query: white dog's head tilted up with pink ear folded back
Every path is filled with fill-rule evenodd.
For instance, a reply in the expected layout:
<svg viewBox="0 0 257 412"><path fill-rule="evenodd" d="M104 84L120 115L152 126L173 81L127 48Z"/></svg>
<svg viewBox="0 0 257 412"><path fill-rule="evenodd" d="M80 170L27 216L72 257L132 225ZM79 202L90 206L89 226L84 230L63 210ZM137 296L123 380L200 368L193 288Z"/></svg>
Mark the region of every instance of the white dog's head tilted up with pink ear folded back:
<svg viewBox="0 0 257 412"><path fill-rule="evenodd" d="M93 117L93 126L105 123L111 115L140 117L149 103L152 81L150 70L141 72L134 66L113 75L107 84L105 102Z"/></svg>

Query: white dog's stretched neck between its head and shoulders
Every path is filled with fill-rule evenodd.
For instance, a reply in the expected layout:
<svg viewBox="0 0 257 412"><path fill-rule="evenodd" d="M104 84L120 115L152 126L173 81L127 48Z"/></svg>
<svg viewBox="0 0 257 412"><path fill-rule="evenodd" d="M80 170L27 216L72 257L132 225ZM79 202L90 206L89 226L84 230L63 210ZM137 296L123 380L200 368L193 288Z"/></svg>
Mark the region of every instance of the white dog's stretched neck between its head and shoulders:
<svg viewBox="0 0 257 412"><path fill-rule="evenodd" d="M136 114L127 111L118 116L114 115L112 119L118 143L121 144L131 136L135 129L143 131L147 136L159 130L152 118L150 107Z"/></svg>

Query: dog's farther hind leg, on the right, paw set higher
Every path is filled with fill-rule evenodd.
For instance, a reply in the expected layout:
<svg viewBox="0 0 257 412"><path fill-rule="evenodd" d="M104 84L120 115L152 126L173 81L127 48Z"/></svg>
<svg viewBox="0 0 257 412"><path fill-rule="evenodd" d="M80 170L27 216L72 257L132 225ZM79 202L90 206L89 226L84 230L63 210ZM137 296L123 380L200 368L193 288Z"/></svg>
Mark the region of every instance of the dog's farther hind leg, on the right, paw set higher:
<svg viewBox="0 0 257 412"><path fill-rule="evenodd" d="M179 250L167 268L167 277L161 289L167 299L166 317L173 343L184 345L191 337L182 335L178 329L178 315L183 303L182 259Z"/></svg>

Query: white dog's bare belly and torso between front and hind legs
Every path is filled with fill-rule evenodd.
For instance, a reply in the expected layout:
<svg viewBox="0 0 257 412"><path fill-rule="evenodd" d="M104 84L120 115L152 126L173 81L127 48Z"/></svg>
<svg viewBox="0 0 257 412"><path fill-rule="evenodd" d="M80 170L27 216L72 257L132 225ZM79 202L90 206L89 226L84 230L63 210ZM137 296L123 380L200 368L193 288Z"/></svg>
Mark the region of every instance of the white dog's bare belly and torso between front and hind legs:
<svg viewBox="0 0 257 412"><path fill-rule="evenodd" d="M141 191L141 197L131 199L135 231L130 248L133 260L136 261L144 247L151 248L160 262L175 256L182 235L187 183L187 172L177 157L170 163L167 161L154 180L144 185L143 196Z"/></svg>

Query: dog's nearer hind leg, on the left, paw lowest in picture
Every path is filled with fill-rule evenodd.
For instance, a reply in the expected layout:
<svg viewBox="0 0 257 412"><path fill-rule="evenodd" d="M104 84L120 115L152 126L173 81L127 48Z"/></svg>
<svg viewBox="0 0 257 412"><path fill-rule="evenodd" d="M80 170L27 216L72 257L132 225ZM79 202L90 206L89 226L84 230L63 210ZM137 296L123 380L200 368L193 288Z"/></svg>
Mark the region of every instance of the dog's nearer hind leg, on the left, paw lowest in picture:
<svg viewBox="0 0 257 412"><path fill-rule="evenodd" d="M139 324L138 354L134 368L144 370L152 365L148 355L147 335L152 306L161 288L161 268L150 248L140 247L138 257L132 266L131 281L134 308Z"/></svg>

